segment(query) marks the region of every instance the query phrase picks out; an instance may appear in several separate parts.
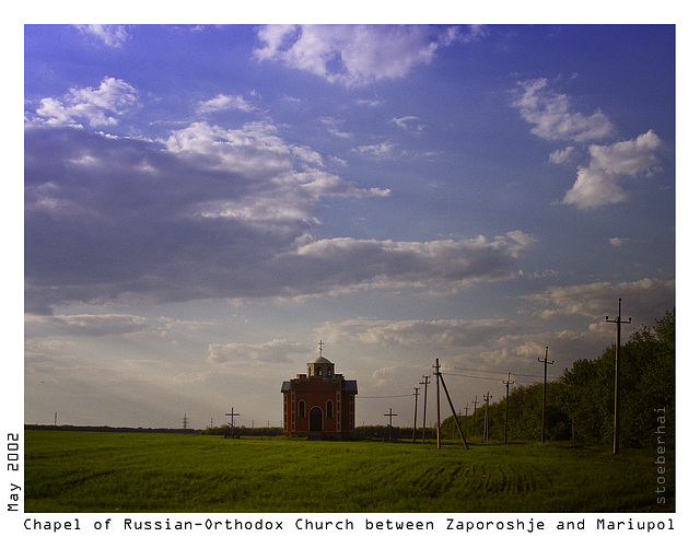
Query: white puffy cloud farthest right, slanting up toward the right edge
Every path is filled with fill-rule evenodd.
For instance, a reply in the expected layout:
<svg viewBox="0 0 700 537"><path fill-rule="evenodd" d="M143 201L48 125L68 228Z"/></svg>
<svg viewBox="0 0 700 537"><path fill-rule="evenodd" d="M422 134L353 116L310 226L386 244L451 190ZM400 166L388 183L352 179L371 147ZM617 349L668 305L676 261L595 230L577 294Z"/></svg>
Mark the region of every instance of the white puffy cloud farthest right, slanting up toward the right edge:
<svg viewBox="0 0 700 537"><path fill-rule="evenodd" d="M656 150L661 145L661 139L652 130L634 140L591 145L591 162L579 168L576 182L562 202L579 209L598 209L628 201L630 192L621 187L620 182L657 171Z"/></svg>

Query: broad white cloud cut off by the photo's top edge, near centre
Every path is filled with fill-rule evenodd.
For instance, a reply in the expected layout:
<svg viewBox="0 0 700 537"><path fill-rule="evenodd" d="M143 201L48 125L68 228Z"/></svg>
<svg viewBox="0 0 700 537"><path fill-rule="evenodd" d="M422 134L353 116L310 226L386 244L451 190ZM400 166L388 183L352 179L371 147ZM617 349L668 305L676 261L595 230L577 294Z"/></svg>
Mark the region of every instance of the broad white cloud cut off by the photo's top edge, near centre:
<svg viewBox="0 0 700 537"><path fill-rule="evenodd" d="M408 25L271 25L258 31L259 60L278 60L310 71L328 82L365 85L381 79L402 78L417 66L430 63L440 47L479 38L471 27L432 28Z"/></svg>

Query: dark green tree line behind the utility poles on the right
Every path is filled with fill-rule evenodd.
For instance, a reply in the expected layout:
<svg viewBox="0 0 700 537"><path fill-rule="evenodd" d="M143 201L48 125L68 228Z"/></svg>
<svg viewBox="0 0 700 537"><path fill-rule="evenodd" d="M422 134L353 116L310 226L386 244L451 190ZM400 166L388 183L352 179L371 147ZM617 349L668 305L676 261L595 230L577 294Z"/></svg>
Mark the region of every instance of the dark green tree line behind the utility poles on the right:
<svg viewBox="0 0 700 537"><path fill-rule="evenodd" d="M676 314L666 312L653 327L643 326L620 346L620 445L654 445L657 418L664 416L665 442L675 444ZM505 397L489 405L489 440L503 441ZM661 410L663 409L663 410ZM662 413L663 412L663 413ZM547 382L545 437L582 444L612 443L615 345L595 360L578 360ZM467 436L482 439L482 404L476 415L459 417ZM508 441L538 441L542 431L542 384L514 386L508 398ZM454 418L441 424L444 437L458 439Z"/></svg>

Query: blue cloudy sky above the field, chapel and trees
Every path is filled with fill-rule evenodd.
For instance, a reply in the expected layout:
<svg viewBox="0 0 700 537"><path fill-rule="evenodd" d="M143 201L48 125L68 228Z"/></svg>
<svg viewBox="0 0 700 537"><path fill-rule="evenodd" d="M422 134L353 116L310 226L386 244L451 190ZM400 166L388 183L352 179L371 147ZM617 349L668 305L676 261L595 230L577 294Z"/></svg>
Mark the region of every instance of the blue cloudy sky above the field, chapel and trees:
<svg viewBox="0 0 700 537"><path fill-rule="evenodd" d="M653 326L675 32L27 24L24 422L279 427L323 340L411 427Z"/></svg>

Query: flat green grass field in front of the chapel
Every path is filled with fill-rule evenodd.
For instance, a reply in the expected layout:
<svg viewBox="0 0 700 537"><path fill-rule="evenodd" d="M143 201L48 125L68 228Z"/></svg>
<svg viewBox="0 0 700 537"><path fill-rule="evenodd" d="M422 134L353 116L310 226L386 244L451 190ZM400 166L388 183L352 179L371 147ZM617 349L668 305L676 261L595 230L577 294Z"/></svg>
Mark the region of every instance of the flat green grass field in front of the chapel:
<svg viewBox="0 0 700 537"><path fill-rule="evenodd" d="M26 512L670 512L655 453L25 431ZM670 486L670 487L669 487Z"/></svg>

